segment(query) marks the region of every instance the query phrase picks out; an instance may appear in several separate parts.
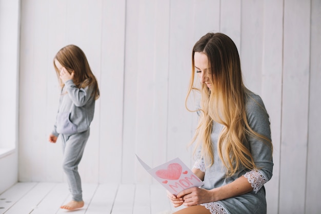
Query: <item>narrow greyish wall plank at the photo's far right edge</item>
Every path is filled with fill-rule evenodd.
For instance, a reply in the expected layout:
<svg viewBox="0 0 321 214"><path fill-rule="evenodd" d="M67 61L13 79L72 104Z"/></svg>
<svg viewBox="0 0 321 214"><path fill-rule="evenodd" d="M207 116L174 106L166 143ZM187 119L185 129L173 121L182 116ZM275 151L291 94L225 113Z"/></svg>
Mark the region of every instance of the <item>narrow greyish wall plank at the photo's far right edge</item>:
<svg viewBox="0 0 321 214"><path fill-rule="evenodd" d="M319 163L321 153L321 2L311 1L311 50L310 50L310 96L309 131L307 160L307 189L305 213L318 213L321 210L321 183L319 182Z"/></svg>

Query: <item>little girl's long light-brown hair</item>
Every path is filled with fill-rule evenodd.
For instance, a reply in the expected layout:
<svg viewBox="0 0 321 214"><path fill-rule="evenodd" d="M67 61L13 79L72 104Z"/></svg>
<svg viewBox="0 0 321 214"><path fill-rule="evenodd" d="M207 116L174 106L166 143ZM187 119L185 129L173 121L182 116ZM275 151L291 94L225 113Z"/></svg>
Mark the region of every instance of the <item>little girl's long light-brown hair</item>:
<svg viewBox="0 0 321 214"><path fill-rule="evenodd" d="M93 87L94 99L99 98L99 88L96 77L92 73L85 53L75 45L67 45L60 49L53 59L53 66L56 70L59 83L64 87L64 83L59 78L60 71L54 61L57 60L69 73L74 72L73 82L77 88Z"/></svg>

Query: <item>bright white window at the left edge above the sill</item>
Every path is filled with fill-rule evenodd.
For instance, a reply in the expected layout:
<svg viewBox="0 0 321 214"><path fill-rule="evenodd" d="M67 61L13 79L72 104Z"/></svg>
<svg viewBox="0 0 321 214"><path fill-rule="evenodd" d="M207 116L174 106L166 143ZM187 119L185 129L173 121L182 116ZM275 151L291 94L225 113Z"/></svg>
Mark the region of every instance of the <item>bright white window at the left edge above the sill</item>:
<svg viewBox="0 0 321 214"><path fill-rule="evenodd" d="M17 143L19 1L0 0L0 158Z"/></svg>

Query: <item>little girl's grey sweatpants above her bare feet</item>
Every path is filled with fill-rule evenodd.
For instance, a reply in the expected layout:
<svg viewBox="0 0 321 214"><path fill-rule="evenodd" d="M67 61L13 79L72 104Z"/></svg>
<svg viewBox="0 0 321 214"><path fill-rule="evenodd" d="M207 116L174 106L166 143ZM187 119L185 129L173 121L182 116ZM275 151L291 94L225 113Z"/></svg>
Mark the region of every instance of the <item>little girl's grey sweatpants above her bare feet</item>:
<svg viewBox="0 0 321 214"><path fill-rule="evenodd" d="M62 134L63 141L63 168L67 176L72 200L83 201L82 181L78 173L78 164L82 160L84 149L89 138L89 132Z"/></svg>

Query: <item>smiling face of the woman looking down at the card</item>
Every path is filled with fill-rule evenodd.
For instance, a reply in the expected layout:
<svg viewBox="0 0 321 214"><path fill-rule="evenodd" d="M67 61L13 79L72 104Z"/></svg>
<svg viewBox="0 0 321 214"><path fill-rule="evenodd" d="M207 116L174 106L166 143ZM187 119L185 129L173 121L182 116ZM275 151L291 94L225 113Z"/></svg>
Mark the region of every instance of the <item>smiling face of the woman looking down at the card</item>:
<svg viewBox="0 0 321 214"><path fill-rule="evenodd" d="M208 58L204 52L194 53L194 66L195 71L198 74L200 83L205 83L211 90L210 68L208 68Z"/></svg>

